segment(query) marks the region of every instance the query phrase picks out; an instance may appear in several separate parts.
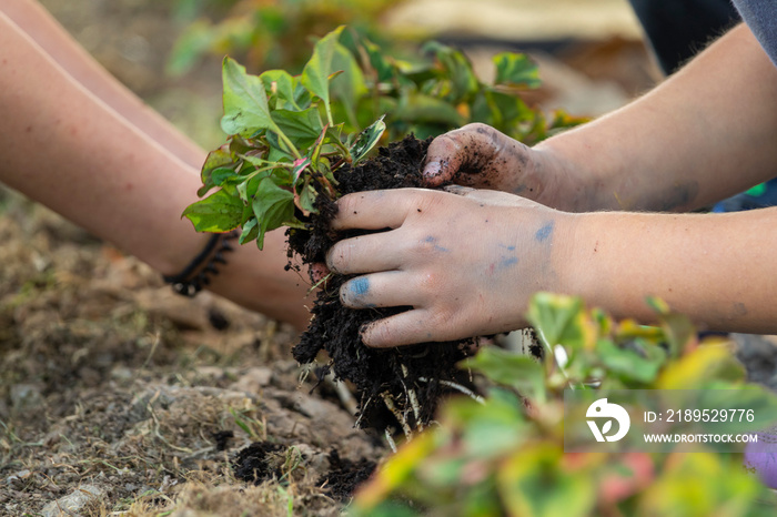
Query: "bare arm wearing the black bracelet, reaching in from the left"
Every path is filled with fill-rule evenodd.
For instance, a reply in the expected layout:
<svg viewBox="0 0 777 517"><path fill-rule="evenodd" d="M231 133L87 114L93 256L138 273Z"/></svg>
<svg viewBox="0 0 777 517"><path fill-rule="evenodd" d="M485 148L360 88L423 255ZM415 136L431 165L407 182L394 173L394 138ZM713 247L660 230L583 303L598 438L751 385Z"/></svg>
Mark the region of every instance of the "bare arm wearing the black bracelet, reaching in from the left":
<svg viewBox="0 0 777 517"><path fill-rule="evenodd" d="M203 247L181 212L196 170L99 101L0 13L0 181L165 274ZM241 246L211 291L304 326L305 286L283 273L284 239Z"/></svg>

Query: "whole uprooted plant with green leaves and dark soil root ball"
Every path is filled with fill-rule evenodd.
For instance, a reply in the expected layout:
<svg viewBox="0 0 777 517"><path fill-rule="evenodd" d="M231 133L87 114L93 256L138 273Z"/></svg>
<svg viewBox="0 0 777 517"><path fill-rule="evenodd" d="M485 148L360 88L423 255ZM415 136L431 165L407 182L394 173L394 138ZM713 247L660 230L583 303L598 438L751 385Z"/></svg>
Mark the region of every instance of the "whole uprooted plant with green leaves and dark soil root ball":
<svg viewBox="0 0 777 517"><path fill-rule="evenodd" d="M221 126L229 138L202 169L199 195L210 195L184 215L202 232L240 229L241 244L255 241L260 249L266 232L286 227L302 263L322 263L329 247L347 236L330 230L341 195L423 186L428 140L416 136L484 122L532 143L582 121L561 112L548 120L521 100L521 91L539 83L523 54L496 55L495 83L485 84L461 51L436 42L424 51L434 60L394 60L341 27L315 43L299 75L252 75L225 58ZM393 143L369 159L386 141ZM325 349L325 369L356 386L360 424L411 437L432 422L441 394L471 392L455 364L471 354L472 342L371 349L361 343L360 326L402 307L346 310L337 297L345 280L319 282L314 316L295 358L311 363Z"/></svg>

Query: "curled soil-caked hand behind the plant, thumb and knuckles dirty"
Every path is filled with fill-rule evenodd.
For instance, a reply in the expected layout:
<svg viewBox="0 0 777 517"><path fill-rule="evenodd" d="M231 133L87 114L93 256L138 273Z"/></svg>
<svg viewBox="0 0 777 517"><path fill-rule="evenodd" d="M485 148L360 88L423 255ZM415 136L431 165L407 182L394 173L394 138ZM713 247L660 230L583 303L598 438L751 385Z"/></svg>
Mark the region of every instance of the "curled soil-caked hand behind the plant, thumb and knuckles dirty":
<svg viewBox="0 0 777 517"><path fill-rule="evenodd" d="M558 183L555 169L542 152L490 125L475 123L434 139L423 174L433 187L453 182L542 201L543 192Z"/></svg>

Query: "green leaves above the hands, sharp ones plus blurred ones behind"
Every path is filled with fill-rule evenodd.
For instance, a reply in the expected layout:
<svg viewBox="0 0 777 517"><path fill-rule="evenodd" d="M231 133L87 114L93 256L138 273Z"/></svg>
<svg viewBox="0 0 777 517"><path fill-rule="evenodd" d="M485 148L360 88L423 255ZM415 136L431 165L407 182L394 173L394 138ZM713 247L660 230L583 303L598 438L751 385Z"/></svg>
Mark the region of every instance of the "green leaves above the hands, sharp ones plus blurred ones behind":
<svg viewBox="0 0 777 517"><path fill-rule="evenodd" d="M261 249L268 231L304 227L317 195L336 199L333 173L379 141L483 122L532 143L582 121L562 112L547 121L521 100L522 89L539 83L523 54L496 55L490 85L462 52L435 42L425 50L433 62L397 61L341 27L319 40L300 75L251 75L225 58L221 126L230 136L209 154L198 194L218 190L184 215L201 232L240 227L241 244L256 240Z"/></svg>

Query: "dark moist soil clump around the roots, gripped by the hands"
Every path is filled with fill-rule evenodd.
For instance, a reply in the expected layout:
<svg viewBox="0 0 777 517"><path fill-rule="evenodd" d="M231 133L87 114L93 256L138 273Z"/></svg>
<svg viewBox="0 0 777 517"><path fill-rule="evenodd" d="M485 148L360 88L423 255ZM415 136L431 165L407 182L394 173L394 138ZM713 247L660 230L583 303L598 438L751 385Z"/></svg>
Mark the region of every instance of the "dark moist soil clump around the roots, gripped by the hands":
<svg viewBox="0 0 777 517"><path fill-rule="evenodd" d="M431 140L407 136L381 148L379 155L355 169L342 168L335 173L341 194L381 189L423 186L422 166ZM330 222L336 204L325 195L317 199L319 214L311 217L310 231L291 230L291 250L303 263L322 263L329 249L339 240L366 232L333 233ZM406 311L410 307L354 311L340 303L339 290L352 276L333 275L319 292L312 308L313 320L300 343L294 358L313 362L324 349L337 378L355 384L361 403L360 425L383 430L396 426L384 399L391 397L411 427L432 420L440 396L450 382L466 384L466 376L456 363L470 355L472 339L450 343L425 343L393 349L364 345L360 330L366 323ZM441 383L442 382L442 383ZM417 397L420 409L412 410L411 398Z"/></svg>

